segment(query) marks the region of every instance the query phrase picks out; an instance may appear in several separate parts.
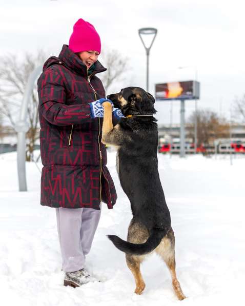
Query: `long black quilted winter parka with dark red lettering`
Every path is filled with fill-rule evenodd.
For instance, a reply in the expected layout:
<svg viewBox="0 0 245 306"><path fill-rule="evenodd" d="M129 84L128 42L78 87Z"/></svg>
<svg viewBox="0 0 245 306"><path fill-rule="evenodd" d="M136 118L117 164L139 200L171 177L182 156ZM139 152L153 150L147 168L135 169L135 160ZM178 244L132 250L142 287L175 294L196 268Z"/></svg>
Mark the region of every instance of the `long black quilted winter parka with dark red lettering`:
<svg viewBox="0 0 245 306"><path fill-rule="evenodd" d="M89 103L105 97L97 61L87 67L67 45L44 64L37 81L40 150L43 163L41 205L99 210L116 202L113 180L101 143L103 118L91 118Z"/></svg>

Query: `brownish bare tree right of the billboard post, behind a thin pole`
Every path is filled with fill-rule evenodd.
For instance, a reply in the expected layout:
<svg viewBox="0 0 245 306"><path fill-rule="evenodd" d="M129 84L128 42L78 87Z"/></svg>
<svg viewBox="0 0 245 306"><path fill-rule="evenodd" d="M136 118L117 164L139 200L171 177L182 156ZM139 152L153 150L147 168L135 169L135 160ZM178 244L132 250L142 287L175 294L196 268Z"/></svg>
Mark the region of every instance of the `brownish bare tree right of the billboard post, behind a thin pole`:
<svg viewBox="0 0 245 306"><path fill-rule="evenodd" d="M191 114L188 123L193 127L189 137L194 139L195 112ZM217 138L229 137L229 123L224 118L210 110L197 111L197 146L210 145Z"/></svg>

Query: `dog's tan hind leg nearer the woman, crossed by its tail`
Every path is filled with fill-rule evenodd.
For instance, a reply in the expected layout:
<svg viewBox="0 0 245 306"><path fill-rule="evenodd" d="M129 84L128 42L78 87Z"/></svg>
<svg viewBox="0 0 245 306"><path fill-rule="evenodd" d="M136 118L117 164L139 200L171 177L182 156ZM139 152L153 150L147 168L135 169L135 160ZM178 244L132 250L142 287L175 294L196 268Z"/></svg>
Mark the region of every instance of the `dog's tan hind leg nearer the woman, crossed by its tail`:
<svg viewBox="0 0 245 306"><path fill-rule="evenodd" d="M128 241L132 243L144 243L148 239L148 231L147 229L141 225L141 223L131 221L129 229L128 229ZM126 262L127 265L132 272L135 280L135 293L141 294L146 287L146 284L142 278L140 272L140 263L145 259L145 256L136 256L126 254Z"/></svg>

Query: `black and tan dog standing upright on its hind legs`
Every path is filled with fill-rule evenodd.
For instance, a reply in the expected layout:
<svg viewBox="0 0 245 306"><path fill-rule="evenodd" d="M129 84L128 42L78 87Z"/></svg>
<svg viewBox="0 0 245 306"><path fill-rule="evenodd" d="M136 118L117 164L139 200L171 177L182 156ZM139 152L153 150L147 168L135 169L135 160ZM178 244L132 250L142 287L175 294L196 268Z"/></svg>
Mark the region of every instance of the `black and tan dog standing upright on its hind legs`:
<svg viewBox="0 0 245 306"><path fill-rule="evenodd" d="M109 102L104 103L102 141L118 148L117 172L133 213L128 241L113 235L108 237L116 248L126 253L128 267L135 278L135 293L141 294L145 289L140 263L147 254L155 251L166 262L174 291L182 300L185 295L175 272L174 232L157 169L155 100L138 87L122 89L107 98L121 109L125 118L113 127L112 106Z"/></svg>

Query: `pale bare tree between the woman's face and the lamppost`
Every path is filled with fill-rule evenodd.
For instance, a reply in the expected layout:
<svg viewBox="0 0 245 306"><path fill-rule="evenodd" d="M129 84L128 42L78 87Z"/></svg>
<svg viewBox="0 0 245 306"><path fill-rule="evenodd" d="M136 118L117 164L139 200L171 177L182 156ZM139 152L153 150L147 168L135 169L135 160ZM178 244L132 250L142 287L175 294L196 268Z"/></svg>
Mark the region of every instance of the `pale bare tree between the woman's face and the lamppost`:
<svg viewBox="0 0 245 306"><path fill-rule="evenodd" d="M129 71L128 58L123 57L117 50L107 49L101 53L101 63L107 68L107 71L101 75L101 81L107 92L115 81L123 80Z"/></svg>

